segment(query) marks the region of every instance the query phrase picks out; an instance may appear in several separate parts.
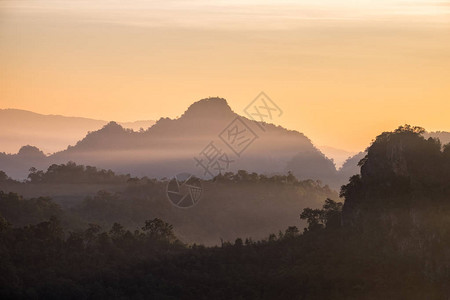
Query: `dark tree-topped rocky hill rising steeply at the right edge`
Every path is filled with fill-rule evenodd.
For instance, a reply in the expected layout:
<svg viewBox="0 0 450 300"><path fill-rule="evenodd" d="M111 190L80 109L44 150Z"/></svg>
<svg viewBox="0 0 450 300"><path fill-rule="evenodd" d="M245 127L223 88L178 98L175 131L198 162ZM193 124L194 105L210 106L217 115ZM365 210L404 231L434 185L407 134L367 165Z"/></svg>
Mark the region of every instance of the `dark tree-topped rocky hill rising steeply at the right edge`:
<svg viewBox="0 0 450 300"><path fill-rule="evenodd" d="M378 136L360 165L341 190L343 225L383 252L416 257L431 279L447 276L450 145L401 127Z"/></svg>

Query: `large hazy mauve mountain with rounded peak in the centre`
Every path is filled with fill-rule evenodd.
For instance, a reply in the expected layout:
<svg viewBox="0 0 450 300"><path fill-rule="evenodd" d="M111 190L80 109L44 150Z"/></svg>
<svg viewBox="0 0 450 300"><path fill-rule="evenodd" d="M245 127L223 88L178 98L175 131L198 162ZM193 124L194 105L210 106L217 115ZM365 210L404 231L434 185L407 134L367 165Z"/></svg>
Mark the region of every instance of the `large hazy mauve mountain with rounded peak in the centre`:
<svg viewBox="0 0 450 300"><path fill-rule="evenodd" d="M43 158L39 163L33 161L37 165L22 161L20 170L11 166L3 168L3 162L11 160L11 156L3 155L0 169L5 169L11 177L24 178L29 167L45 168L53 163L74 161L136 176L161 178L179 172L202 176L204 170L196 166L194 157L201 158L200 152L213 142L231 161L222 172L245 169L271 175L290 170L299 179L320 179L324 183L335 180L337 174L333 162L305 135L244 117L240 118L241 122L257 138L239 157L219 137L222 133L222 137L227 138L230 132L225 129L230 129L237 117L225 99L203 99L192 104L181 117L161 118L142 132L133 132L110 122L102 129L90 132L74 146Z"/></svg>

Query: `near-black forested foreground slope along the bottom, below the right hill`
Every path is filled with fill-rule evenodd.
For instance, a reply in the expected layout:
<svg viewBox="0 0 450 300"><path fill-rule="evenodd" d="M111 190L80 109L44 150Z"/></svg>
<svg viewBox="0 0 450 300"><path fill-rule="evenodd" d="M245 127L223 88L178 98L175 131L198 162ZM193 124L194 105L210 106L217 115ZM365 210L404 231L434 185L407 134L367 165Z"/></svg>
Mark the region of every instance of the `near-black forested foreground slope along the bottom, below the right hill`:
<svg viewBox="0 0 450 300"><path fill-rule="evenodd" d="M334 205L332 205L334 206ZM160 232L162 220L144 228ZM345 230L187 248L115 224L61 234L57 219L0 231L2 299L441 299L413 258ZM381 251L381 249L383 249Z"/></svg>

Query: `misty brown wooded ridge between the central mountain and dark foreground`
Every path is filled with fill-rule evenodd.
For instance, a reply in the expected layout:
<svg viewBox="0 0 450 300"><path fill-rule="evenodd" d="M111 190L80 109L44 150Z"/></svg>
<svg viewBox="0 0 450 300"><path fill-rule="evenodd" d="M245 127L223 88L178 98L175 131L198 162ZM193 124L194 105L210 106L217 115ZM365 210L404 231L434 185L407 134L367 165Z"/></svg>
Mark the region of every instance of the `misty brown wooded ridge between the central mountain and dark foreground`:
<svg viewBox="0 0 450 300"><path fill-rule="evenodd" d="M32 170L33 180L0 183L0 189L15 192L0 196L0 215L14 226L45 221L51 213L42 205L36 206L42 202L37 200L43 199L39 195L44 194L46 201L59 209L58 214L53 213L66 230L81 229L88 223L107 228L115 222L133 230L148 218L162 218L177 228L185 242L213 245L220 238L234 240L243 234L263 238L296 222L302 208L338 197L321 182L298 180L290 172L266 176L240 170L204 181L201 204L179 214L167 199L166 179L88 170L95 168L74 163L54 165L40 172L39 179L34 180L38 171ZM86 182L88 176L97 176L96 182Z"/></svg>

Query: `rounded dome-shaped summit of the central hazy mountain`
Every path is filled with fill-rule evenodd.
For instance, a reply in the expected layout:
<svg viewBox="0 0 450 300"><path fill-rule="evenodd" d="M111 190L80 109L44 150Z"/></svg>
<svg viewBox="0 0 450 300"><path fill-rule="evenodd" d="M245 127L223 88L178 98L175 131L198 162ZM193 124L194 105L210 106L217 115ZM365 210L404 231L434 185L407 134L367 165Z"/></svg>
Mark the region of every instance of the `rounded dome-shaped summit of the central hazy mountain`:
<svg viewBox="0 0 450 300"><path fill-rule="evenodd" d="M218 116L231 114L234 114L234 112L228 105L227 100L219 97L209 97L191 104L182 117L217 118Z"/></svg>

